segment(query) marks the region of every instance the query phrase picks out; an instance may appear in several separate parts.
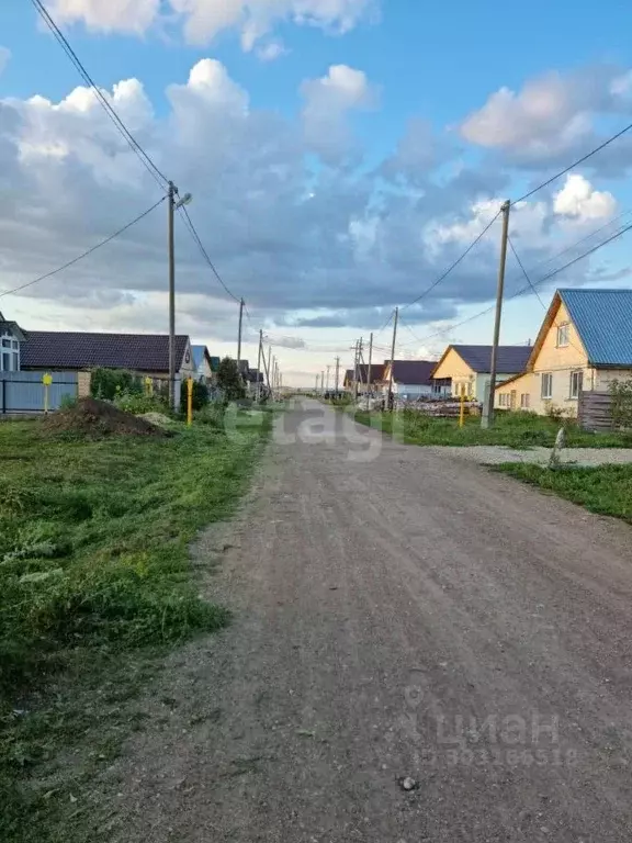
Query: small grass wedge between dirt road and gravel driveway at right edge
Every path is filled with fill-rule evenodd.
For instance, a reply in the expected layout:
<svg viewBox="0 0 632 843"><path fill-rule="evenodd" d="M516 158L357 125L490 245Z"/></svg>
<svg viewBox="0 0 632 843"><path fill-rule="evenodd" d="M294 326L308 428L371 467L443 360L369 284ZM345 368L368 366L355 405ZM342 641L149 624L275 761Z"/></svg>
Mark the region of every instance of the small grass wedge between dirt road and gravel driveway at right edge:
<svg viewBox="0 0 632 843"><path fill-rule="evenodd" d="M539 486L599 515L611 515L632 524L632 465L545 469L526 463L494 467L524 483Z"/></svg>

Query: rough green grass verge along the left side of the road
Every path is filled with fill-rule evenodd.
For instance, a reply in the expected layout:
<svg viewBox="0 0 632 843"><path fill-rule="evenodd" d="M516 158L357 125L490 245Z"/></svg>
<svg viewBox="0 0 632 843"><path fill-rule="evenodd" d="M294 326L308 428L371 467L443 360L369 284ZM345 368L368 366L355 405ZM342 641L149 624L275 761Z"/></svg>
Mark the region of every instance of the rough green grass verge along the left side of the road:
<svg viewBox="0 0 632 843"><path fill-rule="evenodd" d="M228 621L189 544L234 512L271 419L95 441L0 424L3 843L74 841L82 782L143 728L159 659Z"/></svg>

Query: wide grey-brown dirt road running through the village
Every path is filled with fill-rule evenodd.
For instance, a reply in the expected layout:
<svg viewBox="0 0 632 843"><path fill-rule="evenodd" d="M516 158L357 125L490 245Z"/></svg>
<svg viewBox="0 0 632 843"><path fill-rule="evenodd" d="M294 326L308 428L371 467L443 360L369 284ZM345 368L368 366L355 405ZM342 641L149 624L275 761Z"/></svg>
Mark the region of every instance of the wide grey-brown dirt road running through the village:
<svg viewBox="0 0 632 843"><path fill-rule="evenodd" d="M108 840L632 840L628 527L306 402L222 549Z"/></svg>

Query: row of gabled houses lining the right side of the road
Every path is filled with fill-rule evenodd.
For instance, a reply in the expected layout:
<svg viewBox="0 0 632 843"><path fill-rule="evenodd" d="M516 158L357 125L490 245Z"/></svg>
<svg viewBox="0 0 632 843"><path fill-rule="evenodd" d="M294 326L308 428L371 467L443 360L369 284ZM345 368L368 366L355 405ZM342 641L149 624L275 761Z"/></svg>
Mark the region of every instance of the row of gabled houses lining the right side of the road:
<svg viewBox="0 0 632 843"><path fill-rule="evenodd" d="M465 396L483 402L489 389L492 346L450 345L441 359L388 360L348 370L345 387L404 401ZM551 407L577 414L583 391L607 391L632 379L632 290L557 290L533 346L500 346L495 406L541 415Z"/></svg>

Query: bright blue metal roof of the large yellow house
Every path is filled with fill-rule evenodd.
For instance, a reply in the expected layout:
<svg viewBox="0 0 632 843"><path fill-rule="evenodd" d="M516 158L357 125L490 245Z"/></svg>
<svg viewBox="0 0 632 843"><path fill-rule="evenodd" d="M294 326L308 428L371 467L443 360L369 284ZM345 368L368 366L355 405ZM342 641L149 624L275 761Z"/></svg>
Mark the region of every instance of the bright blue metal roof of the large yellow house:
<svg viewBox="0 0 632 843"><path fill-rule="evenodd" d="M591 366L632 366L632 290L558 290Z"/></svg>

